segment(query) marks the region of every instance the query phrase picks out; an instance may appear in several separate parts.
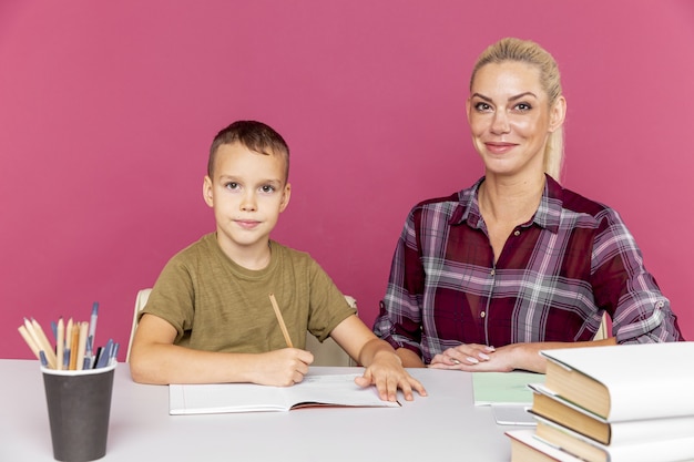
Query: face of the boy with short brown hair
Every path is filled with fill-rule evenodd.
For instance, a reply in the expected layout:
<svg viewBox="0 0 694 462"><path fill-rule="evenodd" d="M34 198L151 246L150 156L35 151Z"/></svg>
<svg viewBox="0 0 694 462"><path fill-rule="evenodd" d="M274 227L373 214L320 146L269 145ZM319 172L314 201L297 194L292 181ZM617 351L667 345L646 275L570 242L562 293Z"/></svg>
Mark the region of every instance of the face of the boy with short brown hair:
<svg viewBox="0 0 694 462"><path fill-rule="evenodd" d="M218 147L214 177L205 176L203 196L214 209L217 240L232 259L266 251L269 233L289 203L285 160L249 151L241 143Z"/></svg>

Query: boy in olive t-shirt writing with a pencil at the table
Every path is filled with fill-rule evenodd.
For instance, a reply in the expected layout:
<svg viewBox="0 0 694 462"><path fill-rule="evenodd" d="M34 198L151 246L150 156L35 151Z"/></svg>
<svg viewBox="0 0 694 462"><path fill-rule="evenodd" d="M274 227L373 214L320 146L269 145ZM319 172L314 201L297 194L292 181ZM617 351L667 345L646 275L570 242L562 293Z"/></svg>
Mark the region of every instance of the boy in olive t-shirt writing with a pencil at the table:
<svg viewBox="0 0 694 462"><path fill-rule="evenodd" d="M392 347L355 316L343 294L307 254L269 239L287 207L289 148L269 126L238 121L210 148L203 197L216 232L175 255L153 287L133 339L130 369L143 383L253 382L292 386L313 362L306 331L330 336L366 367L356 379L380 399L406 400L421 383ZM288 348L269 299L274 294Z"/></svg>

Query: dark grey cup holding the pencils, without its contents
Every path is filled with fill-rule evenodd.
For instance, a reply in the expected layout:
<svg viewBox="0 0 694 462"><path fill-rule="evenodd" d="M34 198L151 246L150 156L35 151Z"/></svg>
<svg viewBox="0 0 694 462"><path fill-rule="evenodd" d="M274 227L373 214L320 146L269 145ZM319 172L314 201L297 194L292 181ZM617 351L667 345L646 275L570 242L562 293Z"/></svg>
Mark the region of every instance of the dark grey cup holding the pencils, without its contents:
<svg viewBox="0 0 694 462"><path fill-rule="evenodd" d="M55 460L84 462L105 455L115 366L41 368Z"/></svg>

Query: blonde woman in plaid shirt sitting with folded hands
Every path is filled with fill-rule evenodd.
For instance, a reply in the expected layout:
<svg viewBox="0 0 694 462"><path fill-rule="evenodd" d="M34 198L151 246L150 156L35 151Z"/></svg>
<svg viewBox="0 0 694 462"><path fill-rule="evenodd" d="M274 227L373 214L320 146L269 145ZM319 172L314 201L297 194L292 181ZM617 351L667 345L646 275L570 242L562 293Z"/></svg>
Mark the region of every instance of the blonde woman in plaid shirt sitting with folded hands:
<svg viewBox="0 0 694 462"><path fill-rule="evenodd" d="M541 349L682 340L619 214L558 183L567 102L554 59L534 42L494 43L466 107L484 176L412 208L374 327L404 366L543 372ZM603 312L614 337L593 341Z"/></svg>

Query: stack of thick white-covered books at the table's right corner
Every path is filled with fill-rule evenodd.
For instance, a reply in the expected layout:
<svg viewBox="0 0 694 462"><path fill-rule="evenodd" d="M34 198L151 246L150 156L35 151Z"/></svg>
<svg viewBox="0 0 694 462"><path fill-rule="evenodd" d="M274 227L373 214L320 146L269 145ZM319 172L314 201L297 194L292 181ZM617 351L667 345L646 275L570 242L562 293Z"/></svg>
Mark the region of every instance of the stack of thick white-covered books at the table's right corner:
<svg viewBox="0 0 694 462"><path fill-rule="evenodd" d="M512 461L694 461L694 342L544 350Z"/></svg>

